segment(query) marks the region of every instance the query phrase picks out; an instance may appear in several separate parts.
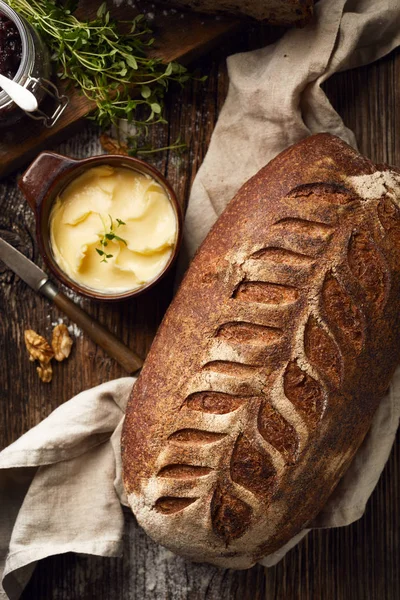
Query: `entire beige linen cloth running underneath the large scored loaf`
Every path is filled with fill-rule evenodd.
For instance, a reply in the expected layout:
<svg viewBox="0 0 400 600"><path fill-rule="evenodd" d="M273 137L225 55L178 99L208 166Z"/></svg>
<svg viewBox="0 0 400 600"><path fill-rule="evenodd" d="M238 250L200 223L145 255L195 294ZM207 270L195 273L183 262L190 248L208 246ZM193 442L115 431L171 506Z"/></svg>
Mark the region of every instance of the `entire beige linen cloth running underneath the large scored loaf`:
<svg viewBox="0 0 400 600"><path fill-rule="evenodd" d="M399 2L321 0L316 13L305 29L228 60L228 97L190 198L186 256L240 185L289 144L330 131L355 145L320 84L400 44ZM120 379L79 394L0 453L0 576L3 571L12 600L45 556L121 551L120 503L126 499L119 444L133 383ZM312 526L347 525L363 514L399 416L400 369L350 469ZM275 564L305 534L263 564Z"/></svg>

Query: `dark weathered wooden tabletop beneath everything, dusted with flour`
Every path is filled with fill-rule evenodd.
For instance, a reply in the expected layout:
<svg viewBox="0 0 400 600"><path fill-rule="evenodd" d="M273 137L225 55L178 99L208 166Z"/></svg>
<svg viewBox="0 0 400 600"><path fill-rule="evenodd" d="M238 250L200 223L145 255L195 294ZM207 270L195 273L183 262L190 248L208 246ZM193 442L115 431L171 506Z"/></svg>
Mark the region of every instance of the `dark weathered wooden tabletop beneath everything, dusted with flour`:
<svg viewBox="0 0 400 600"><path fill-rule="evenodd" d="M279 32L278 32L279 33ZM206 83L192 82L168 99L169 126L153 132L166 145L180 135L188 151L150 161L165 173L182 203L201 164L228 86L225 58L235 50L271 40L267 28L251 27L228 40L197 66ZM400 51L373 65L332 77L325 89L361 152L400 165ZM98 131L85 125L57 148L75 157L101 152ZM0 184L0 235L42 265L33 215L16 188ZM148 351L170 302L172 277L142 298L114 305L79 300L139 354ZM17 439L74 394L123 376L122 369L78 333L72 356L57 365L50 385L39 381L24 348L23 332L50 335L62 315L0 264L0 449ZM66 319L64 322L68 324ZM42 561L23 598L37 600L396 600L400 598L399 436L365 516L350 527L310 534L271 569L221 570L191 564L153 543L126 512L124 556L67 554ZM1 510L1 507L0 507Z"/></svg>

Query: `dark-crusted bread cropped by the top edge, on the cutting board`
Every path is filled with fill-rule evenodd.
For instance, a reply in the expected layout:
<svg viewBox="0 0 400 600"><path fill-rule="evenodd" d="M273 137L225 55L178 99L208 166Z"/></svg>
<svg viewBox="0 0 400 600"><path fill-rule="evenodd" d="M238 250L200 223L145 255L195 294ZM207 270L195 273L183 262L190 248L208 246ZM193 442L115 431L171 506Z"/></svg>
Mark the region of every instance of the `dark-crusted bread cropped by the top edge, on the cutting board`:
<svg viewBox="0 0 400 600"><path fill-rule="evenodd" d="M304 25L312 16L314 0L158 0L200 12L227 12L267 20L274 25Z"/></svg>

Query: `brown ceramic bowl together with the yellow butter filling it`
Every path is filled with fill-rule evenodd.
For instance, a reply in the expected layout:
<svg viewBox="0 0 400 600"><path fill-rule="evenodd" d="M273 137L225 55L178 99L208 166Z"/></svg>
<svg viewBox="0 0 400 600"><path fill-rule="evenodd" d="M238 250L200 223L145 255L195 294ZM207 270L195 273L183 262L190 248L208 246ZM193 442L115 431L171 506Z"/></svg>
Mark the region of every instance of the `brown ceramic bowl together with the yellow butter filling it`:
<svg viewBox="0 0 400 600"><path fill-rule="evenodd" d="M159 171L137 158L73 160L43 152L19 187L35 213L48 267L79 294L106 301L142 294L178 254L176 195Z"/></svg>

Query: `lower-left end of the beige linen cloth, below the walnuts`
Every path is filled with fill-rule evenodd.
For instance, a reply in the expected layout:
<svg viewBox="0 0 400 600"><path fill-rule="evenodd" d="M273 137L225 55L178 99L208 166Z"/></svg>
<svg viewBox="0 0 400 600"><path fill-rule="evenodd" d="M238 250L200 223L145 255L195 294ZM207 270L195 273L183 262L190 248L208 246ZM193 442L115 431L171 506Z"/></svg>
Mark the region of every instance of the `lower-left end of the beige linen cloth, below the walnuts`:
<svg viewBox="0 0 400 600"><path fill-rule="evenodd" d="M0 453L0 576L9 598L46 556L121 554L119 445L134 382L78 394Z"/></svg>

